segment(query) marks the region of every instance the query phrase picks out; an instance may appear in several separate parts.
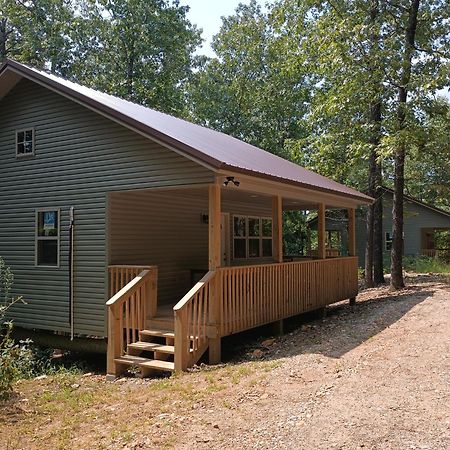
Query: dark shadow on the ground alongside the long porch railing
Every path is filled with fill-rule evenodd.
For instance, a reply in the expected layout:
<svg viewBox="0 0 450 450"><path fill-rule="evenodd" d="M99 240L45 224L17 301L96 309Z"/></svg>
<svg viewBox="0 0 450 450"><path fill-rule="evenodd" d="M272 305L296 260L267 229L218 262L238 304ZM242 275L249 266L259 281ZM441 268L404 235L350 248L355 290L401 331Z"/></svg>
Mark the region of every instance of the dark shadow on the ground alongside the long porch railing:
<svg viewBox="0 0 450 450"><path fill-rule="evenodd" d="M238 363L307 353L340 358L433 296L433 286L421 286L417 281L414 280L415 285L400 293L390 293L387 287L382 287L371 290L373 298L366 299L369 291L365 291L360 296L362 300L357 301L353 308L348 302L330 305L326 308L325 317L321 310L286 319L284 334L277 337L274 343L269 340L266 346L264 340L273 337L273 327L270 325L224 338L223 361ZM259 351L255 351L257 349Z"/></svg>

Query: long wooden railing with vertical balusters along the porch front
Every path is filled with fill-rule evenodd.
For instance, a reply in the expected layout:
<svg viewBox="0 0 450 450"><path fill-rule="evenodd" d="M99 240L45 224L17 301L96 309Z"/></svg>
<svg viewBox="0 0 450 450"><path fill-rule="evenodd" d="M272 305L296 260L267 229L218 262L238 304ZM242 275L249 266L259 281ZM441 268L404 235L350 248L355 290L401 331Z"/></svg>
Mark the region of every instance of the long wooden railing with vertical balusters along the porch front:
<svg viewBox="0 0 450 450"><path fill-rule="evenodd" d="M217 269L220 335L356 297L357 258Z"/></svg>

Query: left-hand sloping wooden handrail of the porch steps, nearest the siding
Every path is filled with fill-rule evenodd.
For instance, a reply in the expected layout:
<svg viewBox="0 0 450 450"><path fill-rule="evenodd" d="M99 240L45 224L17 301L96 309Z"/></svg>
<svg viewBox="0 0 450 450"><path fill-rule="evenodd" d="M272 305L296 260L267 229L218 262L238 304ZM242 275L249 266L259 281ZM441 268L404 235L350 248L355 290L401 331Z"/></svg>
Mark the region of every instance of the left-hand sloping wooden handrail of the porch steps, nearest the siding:
<svg viewBox="0 0 450 450"><path fill-rule="evenodd" d="M123 269L124 276L131 277L130 269L130 267ZM116 272L115 277L114 281L117 278L120 282L124 280L120 271ZM128 344L139 340L139 331L145 329L146 320L156 315L157 279L157 267L147 266L106 302L109 375L118 375L114 359L124 355Z"/></svg>

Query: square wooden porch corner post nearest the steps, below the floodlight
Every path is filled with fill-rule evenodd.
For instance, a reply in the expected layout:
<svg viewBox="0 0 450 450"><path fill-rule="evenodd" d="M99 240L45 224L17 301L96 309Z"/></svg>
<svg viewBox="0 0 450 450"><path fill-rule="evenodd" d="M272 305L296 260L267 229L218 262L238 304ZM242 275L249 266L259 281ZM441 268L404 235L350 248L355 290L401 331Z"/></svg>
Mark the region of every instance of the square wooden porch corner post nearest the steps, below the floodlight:
<svg viewBox="0 0 450 450"><path fill-rule="evenodd" d="M209 196L209 216L208 216L208 229L209 229L209 260L208 269L216 270L221 265L221 231L220 231L220 209L221 209L221 186L218 183L212 184L208 188ZM209 363L218 364L221 360L221 342L220 335L218 334L220 325L220 302L221 302L221 285L220 277L216 272L216 276L211 284L209 291L209 322L210 325L216 327L216 336L210 337L208 342Z"/></svg>

